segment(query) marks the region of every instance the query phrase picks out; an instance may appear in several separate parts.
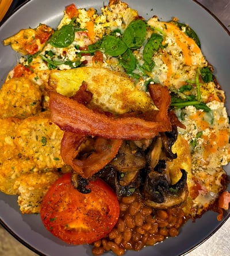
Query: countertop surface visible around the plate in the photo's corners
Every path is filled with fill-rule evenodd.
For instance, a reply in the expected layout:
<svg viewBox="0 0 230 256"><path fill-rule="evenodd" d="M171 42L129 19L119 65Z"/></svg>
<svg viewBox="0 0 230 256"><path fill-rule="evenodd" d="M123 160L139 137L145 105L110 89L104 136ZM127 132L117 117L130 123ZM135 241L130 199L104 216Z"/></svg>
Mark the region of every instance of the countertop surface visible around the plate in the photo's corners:
<svg viewBox="0 0 230 256"><path fill-rule="evenodd" d="M20 0L23 3L25 0ZM230 31L230 0L198 0L214 14ZM7 13L9 14L9 13ZM6 15L7 15L6 14ZM186 256L227 256L230 252L230 218L208 240L190 251ZM0 255L1 256L36 256L20 242L13 238L0 225Z"/></svg>

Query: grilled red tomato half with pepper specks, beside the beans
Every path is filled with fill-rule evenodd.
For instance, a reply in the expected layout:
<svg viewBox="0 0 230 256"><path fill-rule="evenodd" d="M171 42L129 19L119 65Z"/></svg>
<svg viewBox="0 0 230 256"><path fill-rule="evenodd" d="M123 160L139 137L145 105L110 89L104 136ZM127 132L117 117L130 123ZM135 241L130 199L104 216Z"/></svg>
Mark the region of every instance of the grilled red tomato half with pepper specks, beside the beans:
<svg viewBox="0 0 230 256"><path fill-rule="evenodd" d="M45 228L66 243L93 243L117 223L120 208L113 190L99 178L90 181L89 188L89 194L76 190L67 173L49 188L41 203Z"/></svg>

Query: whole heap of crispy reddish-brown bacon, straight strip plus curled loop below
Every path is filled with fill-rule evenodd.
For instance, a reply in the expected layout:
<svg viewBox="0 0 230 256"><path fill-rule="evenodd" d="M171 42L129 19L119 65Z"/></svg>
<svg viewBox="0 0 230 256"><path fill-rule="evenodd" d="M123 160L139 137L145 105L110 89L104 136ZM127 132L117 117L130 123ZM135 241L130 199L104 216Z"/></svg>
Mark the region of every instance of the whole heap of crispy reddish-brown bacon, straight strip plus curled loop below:
<svg viewBox="0 0 230 256"><path fill-rule="evenodd" d="M51 120L65 131L61 143L63 161L83 178L91 177L106 166L116 156L123 139L151 139L159 132L171 130L168 118L170 95L165 87L150 87L159 110L118 117L87 108L92 94L86 89L87 84L83 82L71 98L54 91L49 94ZM79 147L87 136L95 136L94 150L81 157Z"/></svg>

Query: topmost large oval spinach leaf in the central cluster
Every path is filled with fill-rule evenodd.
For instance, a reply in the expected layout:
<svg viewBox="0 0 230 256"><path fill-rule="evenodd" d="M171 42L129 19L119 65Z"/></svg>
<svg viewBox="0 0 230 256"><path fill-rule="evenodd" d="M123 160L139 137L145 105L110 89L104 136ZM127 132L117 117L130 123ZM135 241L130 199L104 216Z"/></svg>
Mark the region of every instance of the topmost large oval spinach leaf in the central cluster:
<svg viewBox="0 0 230 256"><path fill-rule="evenodd" d="M125 29L122 40L130 49L139 48L145 40L146 30L143 20L132 21Z"/></svg>

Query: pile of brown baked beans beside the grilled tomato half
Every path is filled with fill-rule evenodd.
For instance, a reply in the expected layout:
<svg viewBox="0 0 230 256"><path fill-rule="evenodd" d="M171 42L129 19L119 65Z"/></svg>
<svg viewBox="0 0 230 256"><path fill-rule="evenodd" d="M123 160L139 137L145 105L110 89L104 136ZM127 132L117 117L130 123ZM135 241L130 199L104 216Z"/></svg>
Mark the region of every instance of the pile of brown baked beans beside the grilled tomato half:
<svg viewBox="0 0 230 256"><path fill-rule="evenodd" d="M125 250L139 251L144 246L161 242L167 236L177 236L185 222L181 208L152 209L144 205L139 194L120 200L120 217L106 238L94 242L95 256L105 251L123 255Z"/></svg>

